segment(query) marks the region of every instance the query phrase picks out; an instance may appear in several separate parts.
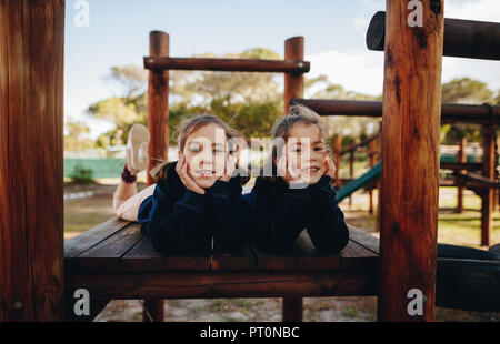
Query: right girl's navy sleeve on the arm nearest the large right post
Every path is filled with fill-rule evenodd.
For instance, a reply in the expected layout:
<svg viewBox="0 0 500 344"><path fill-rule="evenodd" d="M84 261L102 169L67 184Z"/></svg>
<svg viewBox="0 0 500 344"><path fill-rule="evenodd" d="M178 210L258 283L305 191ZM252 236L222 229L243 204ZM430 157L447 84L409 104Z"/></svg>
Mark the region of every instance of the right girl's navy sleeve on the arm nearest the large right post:
<svg viewBox="0 0 500 344"><path fill-rule="evenodd" d="M308 234L314 246L321 252L339 252L349 241L349 229L340 210L331 178L323 175L311 186L311 216Z"/></svg>

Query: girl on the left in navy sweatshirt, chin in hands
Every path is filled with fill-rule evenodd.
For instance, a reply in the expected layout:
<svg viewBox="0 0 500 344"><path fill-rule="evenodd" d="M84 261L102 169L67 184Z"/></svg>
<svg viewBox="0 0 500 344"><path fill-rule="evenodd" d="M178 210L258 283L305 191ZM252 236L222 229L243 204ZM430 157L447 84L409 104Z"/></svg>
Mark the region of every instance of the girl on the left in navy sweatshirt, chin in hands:
<svg viewBox="0 0 500 344"><path fill-rule="evenodd" d="M179 131L179 160L151 172L157 186L139 209L142 231L164 254L240 250L252 225L241 195L248 178L234 173L231 149L240 134L213 115L192 118Z"/></svg>

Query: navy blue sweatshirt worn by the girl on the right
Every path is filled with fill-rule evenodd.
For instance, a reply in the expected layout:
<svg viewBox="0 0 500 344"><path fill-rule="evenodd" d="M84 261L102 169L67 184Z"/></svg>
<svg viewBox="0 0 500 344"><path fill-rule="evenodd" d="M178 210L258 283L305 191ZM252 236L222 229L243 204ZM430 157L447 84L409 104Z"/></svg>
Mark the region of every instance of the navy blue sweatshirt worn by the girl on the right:
<svg viewBox="0 0 500 344"><path fill-rule="evenodd" d="M254 240L262 249L286 250L304 229L314 246L324 253L339 252L349 241L349 230L328 175L304 189L290 189L281 178L276 181L258 178L246 199L257 225Z"/></svg>

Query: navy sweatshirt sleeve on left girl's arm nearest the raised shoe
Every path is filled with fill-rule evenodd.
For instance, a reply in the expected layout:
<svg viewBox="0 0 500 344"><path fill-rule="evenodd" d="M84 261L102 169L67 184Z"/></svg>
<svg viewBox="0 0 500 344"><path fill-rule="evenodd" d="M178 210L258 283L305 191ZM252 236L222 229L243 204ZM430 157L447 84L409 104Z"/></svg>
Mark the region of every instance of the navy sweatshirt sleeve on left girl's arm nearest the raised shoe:
<svg viewBox="0 0 500 344"><path fill-rule="evenodd" d="M179 200L157 185L146 233L154 250L164 254L201 253L210 250L211 231L203 223L204 195L186 190Z"/></svg>

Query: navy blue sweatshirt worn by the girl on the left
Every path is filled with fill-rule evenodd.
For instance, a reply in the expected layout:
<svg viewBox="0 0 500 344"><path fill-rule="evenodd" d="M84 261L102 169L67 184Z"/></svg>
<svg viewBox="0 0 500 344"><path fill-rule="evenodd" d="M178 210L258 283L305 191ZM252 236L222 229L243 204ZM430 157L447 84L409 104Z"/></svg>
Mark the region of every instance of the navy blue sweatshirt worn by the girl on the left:
<svg viewBox="0 0 500 344"><path fill-rule="evenodd" d="M153 249L163 254L207 253L212 237L217 250L238 251L252 229L241 190L234 176L229 182L218 180L204 194L196 193L186 189L173 163L166 181L157 183L154 193L141 203L138 222Z"/></svg>

